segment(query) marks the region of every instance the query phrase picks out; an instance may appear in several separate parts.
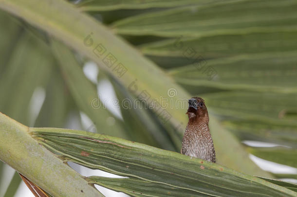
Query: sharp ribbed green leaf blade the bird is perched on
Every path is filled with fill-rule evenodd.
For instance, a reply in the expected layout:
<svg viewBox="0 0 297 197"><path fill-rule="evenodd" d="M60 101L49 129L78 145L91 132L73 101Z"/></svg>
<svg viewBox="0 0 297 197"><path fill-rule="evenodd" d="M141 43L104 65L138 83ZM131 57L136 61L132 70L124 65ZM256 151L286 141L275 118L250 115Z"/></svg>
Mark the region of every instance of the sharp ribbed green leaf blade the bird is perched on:
<svg viewBox="0 0 297 197"><path fill-rule="evenodd" d="M87 167L213 196L294 196L223 166L148 145L67 129L31 128L49 150Z"/></svg>

